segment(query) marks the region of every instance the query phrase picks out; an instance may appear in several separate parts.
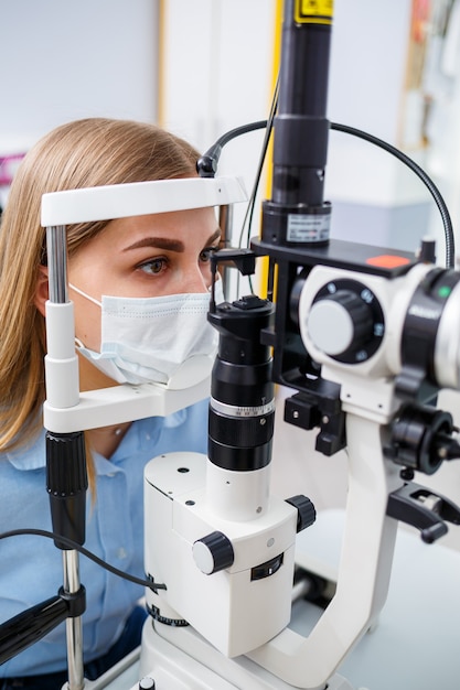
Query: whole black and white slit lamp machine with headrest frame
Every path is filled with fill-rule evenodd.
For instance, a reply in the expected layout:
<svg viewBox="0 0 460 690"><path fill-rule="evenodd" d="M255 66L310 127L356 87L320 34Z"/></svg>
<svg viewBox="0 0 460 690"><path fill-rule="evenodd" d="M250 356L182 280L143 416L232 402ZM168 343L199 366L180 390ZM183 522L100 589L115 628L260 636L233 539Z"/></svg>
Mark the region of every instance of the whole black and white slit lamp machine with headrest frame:
<svg viewBox="0 0 460 690"><path fill-rule="evenodd" d="M431 185L445 220L446 268L435 263L427 240L410 254L330 238L328 134L347 130L325 117L332 2L314 4L285 2L279 100L274 121L261 123L267 130L272 125L274 160L260 237L247 249L212 257L214 272L232 262L250 274L258 257L268 257L269 270L267 299L247 294L216 304L212 294L208 320L220 344L211 386L203 363L203 376L188 387L179 377L169 388L79 392L65 226L245 201L237 179L216 176L223 142L199 161L196 180L43 197L47 490L64 584L45 603L55 619L43 624L38 607L0 626L0 659L30 644L32 627L36 638L66 619L69 690L107 687L85 682L81 653L84 587L72 545L85 539L85 429L167 414L210 397L207 456L172 453L146 467L150 616L139 688L357 690L343 669L367 632L378 629L398 524L416 528L429 552L437 547L426 545L442 537L448 522L460 522L453 502L414 481L416 472L431 475L460 456L452 414L438 407L441 390L460 388L460 272L452 266L449 215ZM276 385L292 391L284 412L276 409ZM270 493L275 412L314 434L324 456L346 452L346 509L332 574L315 571L317 552L309 558L310 532L320 535L320 543L333 540L329 532L321 537L321 513L301 493L287 499ZM302 600L307 611L313 591L322 603L309 629L298 632L292 602ZM459 616L452 617L458 635ZM439 680L438 687L456 687L454 678Z"/></svg>

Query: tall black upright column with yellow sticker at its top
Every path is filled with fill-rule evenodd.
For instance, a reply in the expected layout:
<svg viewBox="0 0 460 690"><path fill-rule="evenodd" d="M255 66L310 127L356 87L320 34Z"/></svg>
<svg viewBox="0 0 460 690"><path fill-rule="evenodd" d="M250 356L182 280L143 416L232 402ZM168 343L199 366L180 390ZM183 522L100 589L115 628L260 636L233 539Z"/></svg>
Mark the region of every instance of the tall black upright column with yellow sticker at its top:
<svg viewBox="0 0 460 690"><path fill-rule="evenodd" d="M323 193L332 17L301 12L302 3L286 0L271 200L264 204L263 239L322 245L329 240L331 212Z"/></svg>

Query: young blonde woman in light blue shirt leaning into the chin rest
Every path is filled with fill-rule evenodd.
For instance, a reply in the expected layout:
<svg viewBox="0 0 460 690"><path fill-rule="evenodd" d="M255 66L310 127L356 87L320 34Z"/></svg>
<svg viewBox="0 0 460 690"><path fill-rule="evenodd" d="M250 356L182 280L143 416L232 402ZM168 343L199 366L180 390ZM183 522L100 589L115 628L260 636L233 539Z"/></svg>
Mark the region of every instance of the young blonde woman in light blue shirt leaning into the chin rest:
<svg viewBox="0 0 460 690"><path fill-rule="evenodd" d="M18 171L0 229L0 531L51 529L42 421L47 299L42 194L191 177L197 157L186 142L152 125L96 118L44 137ZM210 252L220 241L213 208L73 225L67 241L81 390L138 382L129 365L99 358L107 299L124 306L135 300L154 311L158 300L162 304L175 295L175 302L191 293L202 346L213 346L205 316ZM161 347L168 342L159 341ZM167 418L86 431L93 499L85 547L141 575L143 466L164 452L205 452L206 431L206 401ZM143 613L136 603L142 589L85 558L81 581L87 592L86 677L95 678L139 644ZM0 623L55 595L61 585L62 554L51 540L21 536L0 541ZM66 678L64 624L0 667L2 690L61 688Z"/></svg>

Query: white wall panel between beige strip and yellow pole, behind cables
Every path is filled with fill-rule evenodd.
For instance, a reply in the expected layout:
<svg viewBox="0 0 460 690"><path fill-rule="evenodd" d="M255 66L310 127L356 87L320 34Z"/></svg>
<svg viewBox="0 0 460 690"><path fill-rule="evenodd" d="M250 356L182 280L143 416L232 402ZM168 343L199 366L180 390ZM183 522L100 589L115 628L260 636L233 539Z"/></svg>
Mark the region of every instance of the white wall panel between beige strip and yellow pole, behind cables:
<svg viewBox="0 0 460 690"><path fill-rule="evenodd" d="M269 114L276 0L168 0L160 68L161 123L205 152L222 134ZM218 174L239 175L252 191L264 130L229 142ZM263 180L258 200L266 196ZM234 245L245 208L234 208ZM259 228L259 209L253 235ZM237 277L229 278L236 291Z"/></svg>

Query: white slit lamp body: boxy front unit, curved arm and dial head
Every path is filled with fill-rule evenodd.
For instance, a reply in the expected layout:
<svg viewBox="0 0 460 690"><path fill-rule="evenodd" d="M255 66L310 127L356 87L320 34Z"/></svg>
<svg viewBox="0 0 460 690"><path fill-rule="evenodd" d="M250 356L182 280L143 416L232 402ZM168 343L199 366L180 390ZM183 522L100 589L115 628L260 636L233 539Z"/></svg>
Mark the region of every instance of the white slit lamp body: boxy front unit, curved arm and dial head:
<svg viewBox="0 0 460 690"><path fill-rule="evenodd" d="M432 276L440 277L436 289ZM400 374L404 367L413 369L403 362L403 339L415 319L416 326L431 333L427 376L438 386L459 386L458 281L454 271L438 273L432 265L414 262L392 277L317 265L304 280L300 333L322 365L321 376L340 386L349 459L335 594L308 636L287 627L297 517L291 505L267 495L269 465L264 472L225 473L200 455L151 461L146 470L146 570L167 590L148 594L157 621L146 624L143 673L154 677L164 660L156 644L168 640L233 688L351 688L336 670L385 603L399 517L395 506L398 492L408 486L400 474L404 463L389 452L392 424L405 397ZM421 308L418 295L430 291L431 306ZM432 471L442 457L436 449ZM417 499L413 504L416 513L425 509ZM422 535L430 527L424 519L413 522ZM208 535L217 541L225 537L215 551L212 539L203 543ZM430 535L428 529L426 541ZM274 573L254 579L267 563L275 565ZM190 628L182 627L185 621Z"/></svg>

